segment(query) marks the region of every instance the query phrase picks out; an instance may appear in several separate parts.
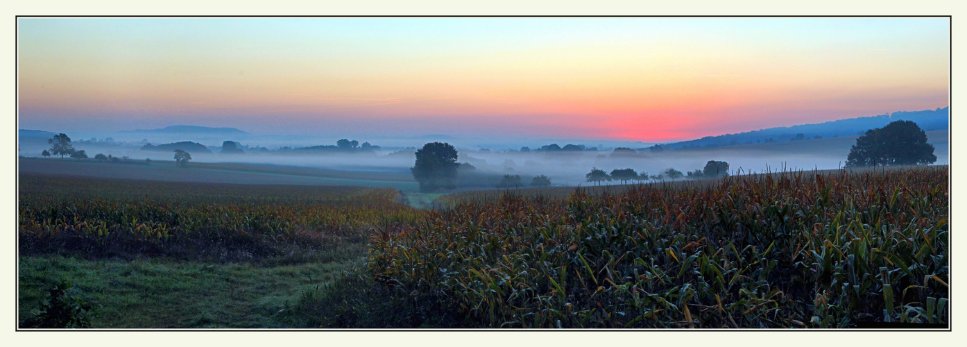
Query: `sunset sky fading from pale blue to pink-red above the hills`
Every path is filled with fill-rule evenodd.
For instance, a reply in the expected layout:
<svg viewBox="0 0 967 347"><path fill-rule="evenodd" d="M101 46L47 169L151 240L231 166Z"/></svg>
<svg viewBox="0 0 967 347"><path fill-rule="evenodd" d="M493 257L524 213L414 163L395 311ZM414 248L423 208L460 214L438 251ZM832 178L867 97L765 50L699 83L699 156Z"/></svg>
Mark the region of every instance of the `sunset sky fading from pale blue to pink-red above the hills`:
<svg viewBox="0 0 967 347"><path fill-rule="evenodd" d="M18 128L662 142L949 105L948 18L18 18Z"/></svg>

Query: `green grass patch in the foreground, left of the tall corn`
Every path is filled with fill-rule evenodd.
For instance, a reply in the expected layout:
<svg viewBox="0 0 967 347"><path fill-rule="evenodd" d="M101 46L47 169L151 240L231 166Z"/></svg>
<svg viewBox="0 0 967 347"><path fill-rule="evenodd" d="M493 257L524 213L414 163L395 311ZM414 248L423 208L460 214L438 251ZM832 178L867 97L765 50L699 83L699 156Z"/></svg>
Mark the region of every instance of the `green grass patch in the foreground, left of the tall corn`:
<svg viewBox="0 0 967 347"><path fill-rule="evenodd" d="M285 328L303 326L290 314L304 293L359 264L310 262L289 266L216 264L144 258L84 260L19 257L19 320L62 278L94 304L92 328Z"/></svg>

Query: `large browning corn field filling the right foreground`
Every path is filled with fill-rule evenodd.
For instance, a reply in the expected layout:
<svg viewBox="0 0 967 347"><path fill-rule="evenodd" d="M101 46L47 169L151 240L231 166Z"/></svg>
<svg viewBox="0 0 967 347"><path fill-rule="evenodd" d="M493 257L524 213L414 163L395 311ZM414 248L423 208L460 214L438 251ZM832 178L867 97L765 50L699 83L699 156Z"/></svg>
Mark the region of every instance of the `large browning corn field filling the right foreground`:
<svg viewBox="0 0 967 347"><path fill-rule="evenodd" d="M946 166L458 202L371 237L400 296L490 328L946 323Z"/></svg>

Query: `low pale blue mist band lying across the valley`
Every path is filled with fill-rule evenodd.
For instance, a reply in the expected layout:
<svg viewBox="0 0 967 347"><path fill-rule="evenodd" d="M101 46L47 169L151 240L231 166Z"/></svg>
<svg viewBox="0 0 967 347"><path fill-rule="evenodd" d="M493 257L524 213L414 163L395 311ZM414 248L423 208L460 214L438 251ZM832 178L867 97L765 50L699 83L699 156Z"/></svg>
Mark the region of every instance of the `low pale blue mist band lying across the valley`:
<svg viewBox="0 0 967 347"><path fill-rule="evenodd" d="M948 131L927 131L928 142L936 148L936 164L949 163ZM70 135L70 133L69 133ZM396 139L391 141L396 147L382 146L373 140L373 146L379 149L372 151L357 151L349 153L311 152L293 150L293 142L273 143L271 139L253 137L251 142L239 140L243 153L221 153L221 141L218 139L192 138L190 135L161 137L162 140L193 140L205 145L210 153L195 151L191 153L194 162L242 162L252 164L269 164L284 166L300 166L326 170L358 171L373 173L389 173L405 180L409 175L409 168L415 161L414 153L422 147L427 139ZM473 146L456 146L459 153L458 162L466 162L475 167L475 171L493 175L520 175L529 182L529 178L536 175L546 175L551 178L553 186L588 185L585 174L593 167L610 172L612 169L632 168L638 172L658 175L668 168L688 172L702 169L709 160L724 160L729 163L730 171L760 172L765 170L787 169L831 169L842 167L849 153L849 149L856 143L857 136L839 136L835 138L806 139L801 141L781 141L745 145L720 146L711 148L681 149L652 151L642 146L615 152L614 147L601 148L585 146L583 151L541 151L540 148L549 143L533 143L530 150L521 152L520 148L481 148ZM43 136L24 136L21 140L20 155L24 157L40 157L41 152L49 146ZM73 137L75 138L75 137ZM104 137L97 141L77 139L74 148L85 150L90 157L96 154L111 155L113 157L128 157L129 159L171 160L173 155L168 151L142 150L148 144L161 144L161 141L123 141L110 139L105 142ZM42 141L43 140L43 141ZM109 141L110 141L109 140ZM305 146L335 145L331 143L312 142L312 138L303 139ZM315 139L322 141L321 139ZM454 139L440 138L437 141L456 142ZM204 142L203 142L204 141ZM584 143L593 143L585 141ZM218 143L218 146L213 144ZM251 145L249 145L251 143ZM580 143L573 140L571 143ZM559 143L565 146L567 142ZM288 147L288 150L285 148ZM522 146L526 147L526 146ZM299 147L295 147L299 148ZM625 147L628 148L628 147ZM464 171L461 171L464 172ZM412 177L409 177L412 179ZM527 183L525 182L525 184ZM612 182L616 184L616 182Z"/></svg>

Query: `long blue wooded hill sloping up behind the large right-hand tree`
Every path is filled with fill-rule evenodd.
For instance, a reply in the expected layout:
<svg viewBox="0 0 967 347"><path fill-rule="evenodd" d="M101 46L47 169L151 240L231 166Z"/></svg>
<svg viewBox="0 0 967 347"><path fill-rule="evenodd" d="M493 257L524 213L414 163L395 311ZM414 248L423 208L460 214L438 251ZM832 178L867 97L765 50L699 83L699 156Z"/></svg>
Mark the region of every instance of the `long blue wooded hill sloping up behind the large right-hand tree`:
<svg viewBox="0 0 967 347"><path fill-rule="evenodd" d="M890 124L890 122L898 120L913 121L925 131L949 130L950 110L950 107L944 107L923 111L903 111L873 117L841 119L819 124L728 133L718 136L706 136L690 141L662 144L661 147L665 149L685 149L789 141L794 139L799 133L804 135L804 139L816 138L816 136L820 138L855 136L862 134L866 130L882 128Z"/></svg>

